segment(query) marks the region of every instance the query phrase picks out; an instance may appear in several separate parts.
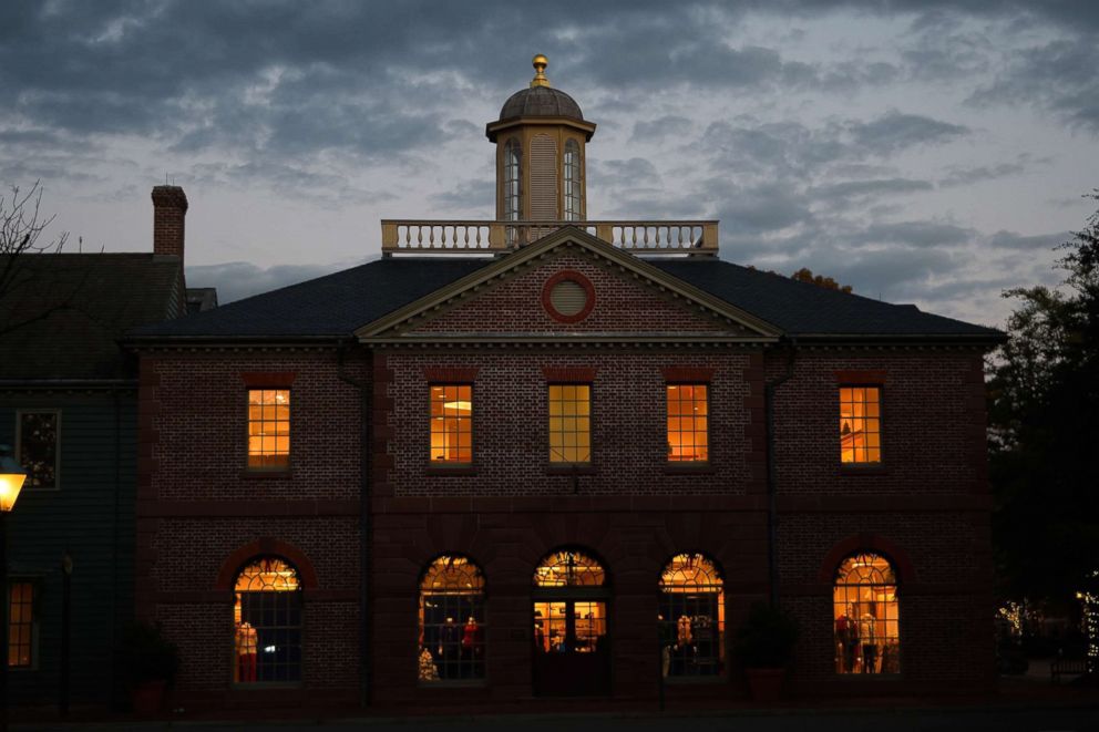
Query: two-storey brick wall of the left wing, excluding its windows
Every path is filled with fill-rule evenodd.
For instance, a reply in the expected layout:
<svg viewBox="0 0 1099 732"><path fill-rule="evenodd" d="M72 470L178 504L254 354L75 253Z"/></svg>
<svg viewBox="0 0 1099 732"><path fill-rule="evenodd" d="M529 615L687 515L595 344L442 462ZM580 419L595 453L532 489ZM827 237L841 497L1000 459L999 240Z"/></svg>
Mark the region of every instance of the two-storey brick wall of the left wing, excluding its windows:
<svg viewBox="0 0 1099 732"><path fill-rule="evenodd" d="M137 604L179 646L177 701L236 705L233 594L242 551L279 554L302 579L302 684L264 703L357 699L361 358L335 351L166 351L141 364ZM246 471L246 377L292 375L290 470ZM228 564L234 566L228 567ZM229 580L232 581L232 579ZM222 586L222 585L225 586Z"/></svg>

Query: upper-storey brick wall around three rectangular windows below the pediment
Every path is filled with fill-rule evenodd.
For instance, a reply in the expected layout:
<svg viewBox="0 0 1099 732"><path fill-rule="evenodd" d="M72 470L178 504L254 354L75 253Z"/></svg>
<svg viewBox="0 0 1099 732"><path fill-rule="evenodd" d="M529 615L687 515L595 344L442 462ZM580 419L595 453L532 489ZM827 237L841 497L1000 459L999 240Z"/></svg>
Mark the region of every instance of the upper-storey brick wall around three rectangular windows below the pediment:
<svg viewBox="0 0 1099 732"><path fill-rule="evenodd" d="M587 495L690 493L743 495L753 480L754 447L762 449L762 411L751 396L759 382L746 381L748 353L471 353L394 352L387 357L384 475L393 495L517 496L571 493L571 475L553 474L548 462L548 406L545 369L594 369L592 381L592 470L581 478ZM757 361L759 357L756 357ZM432 468L429 461L428 369L472 368L474 467L460 474ZM709 383L711 471L685 474L667 461L666 380L668 367L712 370ZM749 377L752 374L748 374ZM762 375L761 373L759 375ZM689 467L689 466L687 466Z"/></svg>

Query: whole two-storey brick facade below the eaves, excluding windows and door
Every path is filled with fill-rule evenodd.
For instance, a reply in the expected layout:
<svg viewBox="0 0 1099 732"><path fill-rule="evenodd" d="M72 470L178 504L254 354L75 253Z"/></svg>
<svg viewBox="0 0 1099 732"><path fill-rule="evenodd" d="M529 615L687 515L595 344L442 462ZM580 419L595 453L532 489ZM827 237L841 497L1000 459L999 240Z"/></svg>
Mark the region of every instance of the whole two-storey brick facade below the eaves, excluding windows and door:
<svg viewBox="0 0 1099 732"><path fill-rule="evenodd" d="M486 326L491 323L486 321ZM635 328L653 323L638 320ZM484 703L527 698L531 578L550 550L578 545L608 569L614 689L656 693L656 584L679 551L722 568L727 635L767 597L762 379L782 353L729 350L404 351L347 373L371 383L370 652L376 702ZM712 370L713 467L666 470L664 374ZM547 470L545 368L594 369L593 470ZM428 370L476 371L475 466L438 475L427 446ZM884 455L855 475L838 456L839 371L884 372ZM289 476L244 474L243 372L294 372ZM305 683L346 691L359 681L359 392L331 351L176 351L143 359L140 415L138 607L184 650L181 692L228 689L230 594L216 587L239 547L277 539L316 575L305 592ZM795 683L808 693L972 690L992 677L988 496L983 466L979 355L962 351L803 350L776 403L782 601L801 621ZM901 573L900 679L836 679L831 584L836 547L870 537ZM485 573L483 689L417 684L420 573L463 553ZM822 579L823 578L823 579ZM876 683L882 681L883 683ZM669 694L743 694L736 667L715 685ZM248 692L238 692L248 697ZM248 697L256 698L256 697ZM236 703L236 702L234 702Z"/></svg>

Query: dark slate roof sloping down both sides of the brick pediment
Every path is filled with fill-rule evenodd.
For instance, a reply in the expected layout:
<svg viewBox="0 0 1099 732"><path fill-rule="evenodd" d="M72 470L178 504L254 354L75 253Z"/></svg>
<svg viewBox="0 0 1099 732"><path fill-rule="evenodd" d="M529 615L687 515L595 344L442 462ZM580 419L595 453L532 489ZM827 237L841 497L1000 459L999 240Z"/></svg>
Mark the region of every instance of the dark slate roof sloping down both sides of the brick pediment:
<svg viewBox="0 0 1099 732"><path fill-rule="evenodd" d="M493 259L394 257L137 328L137 340L332 339L352 332ZM855 295L825 290L716 259L648 260L788 334L998 340L999 331Z"/></svg>

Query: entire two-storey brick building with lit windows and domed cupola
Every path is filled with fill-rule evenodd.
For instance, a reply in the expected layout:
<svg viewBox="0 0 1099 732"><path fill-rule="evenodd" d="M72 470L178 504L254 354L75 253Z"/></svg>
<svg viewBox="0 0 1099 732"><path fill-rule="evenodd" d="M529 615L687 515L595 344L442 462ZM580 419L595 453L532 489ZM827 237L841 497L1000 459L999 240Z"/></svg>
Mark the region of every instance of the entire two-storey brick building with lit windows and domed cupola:
<svg viewBox="0 0 1099 732"><path fill-rule="evenodd" d="M716 221L586 218L595 125L487 125L492 221L132 331L136 601L192 704L489 709L994 680L982 355L1000 334L716 257Z"/></svg>

